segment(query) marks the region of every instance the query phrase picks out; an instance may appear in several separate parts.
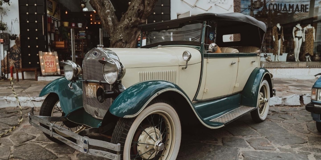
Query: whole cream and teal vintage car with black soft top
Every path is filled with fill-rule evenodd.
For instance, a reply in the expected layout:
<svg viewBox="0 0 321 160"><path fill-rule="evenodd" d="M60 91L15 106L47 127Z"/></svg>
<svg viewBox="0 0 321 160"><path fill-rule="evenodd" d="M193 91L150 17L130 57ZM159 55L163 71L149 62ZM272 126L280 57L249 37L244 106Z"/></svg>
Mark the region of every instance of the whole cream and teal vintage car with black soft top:
<svg viewBox="0 0 321 160"><path fill-rule="evenodd" d="M82 67L61 62L65 77L40 92L30 124L88 155L174 160L182 126L217 129L248 112L265 120L275 90L260 68L263 22L204 13L138 28L140 48L99 45Z"/></svg>

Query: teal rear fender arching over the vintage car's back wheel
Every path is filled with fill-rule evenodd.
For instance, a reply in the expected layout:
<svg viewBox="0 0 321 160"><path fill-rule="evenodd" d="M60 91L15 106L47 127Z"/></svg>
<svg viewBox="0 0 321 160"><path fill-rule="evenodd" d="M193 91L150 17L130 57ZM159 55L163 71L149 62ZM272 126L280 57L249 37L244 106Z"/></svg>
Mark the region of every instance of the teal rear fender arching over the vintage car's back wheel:
<svg viewBox="0 0 321 160"><path fill-rule="evenodd" d="M257 96L259 92L260 84L265 78L270 86L270 97L273 97L272 92L272 80L271 75L265 68L255 68L242 91L241 104L244 106L256 107L257 106Z"/></svg>

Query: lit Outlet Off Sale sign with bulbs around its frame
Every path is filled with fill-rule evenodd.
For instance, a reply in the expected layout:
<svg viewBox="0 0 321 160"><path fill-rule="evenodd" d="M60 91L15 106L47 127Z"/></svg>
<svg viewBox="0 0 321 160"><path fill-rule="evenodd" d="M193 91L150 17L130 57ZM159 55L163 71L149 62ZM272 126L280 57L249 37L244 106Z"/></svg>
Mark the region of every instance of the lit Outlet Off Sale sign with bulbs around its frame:
<svg viewBox="0 0 321 160"><path fill-rule="evenodd" d="M57 52L39 51L41 73L44 76L60 75Z"/></svg>

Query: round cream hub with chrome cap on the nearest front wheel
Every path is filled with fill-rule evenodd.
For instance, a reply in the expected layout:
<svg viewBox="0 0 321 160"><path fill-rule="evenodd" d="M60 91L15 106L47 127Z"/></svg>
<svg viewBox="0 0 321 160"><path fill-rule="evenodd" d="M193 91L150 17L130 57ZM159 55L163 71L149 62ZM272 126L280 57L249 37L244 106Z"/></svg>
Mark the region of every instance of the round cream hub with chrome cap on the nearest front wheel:
<svg viewBox="0 0 321 160"><path fill-rule="evenodd" d="M156 127L147 127L138 138L140 145L137 145L137 152L143 159L154 158L157 151L162 151L165 148L164 143L161 142L162 134ZM153 149L152 149L153 148Z"/></svg>

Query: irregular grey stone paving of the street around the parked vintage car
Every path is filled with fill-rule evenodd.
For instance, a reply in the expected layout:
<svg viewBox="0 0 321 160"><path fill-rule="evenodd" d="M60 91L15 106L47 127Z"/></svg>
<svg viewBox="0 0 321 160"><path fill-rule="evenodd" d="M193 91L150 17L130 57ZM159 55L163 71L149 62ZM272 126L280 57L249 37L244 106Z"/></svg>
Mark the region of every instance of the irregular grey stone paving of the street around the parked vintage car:
<svg viewBox="0 0 321 160"><path fill-rule="evenodd" d="M19 108L0 108L0 133L15 125ZM0 159L9 160L84 160L87 156L67 145L49 141L30 126L23 108L23 122L0 138ZM39 114L36 108L35 114ZM183 130L178 160L321 160L321 134L317 132L305 107L270 107L267 119L254 123L249 114L211 130L190 127Z"/></svg>

